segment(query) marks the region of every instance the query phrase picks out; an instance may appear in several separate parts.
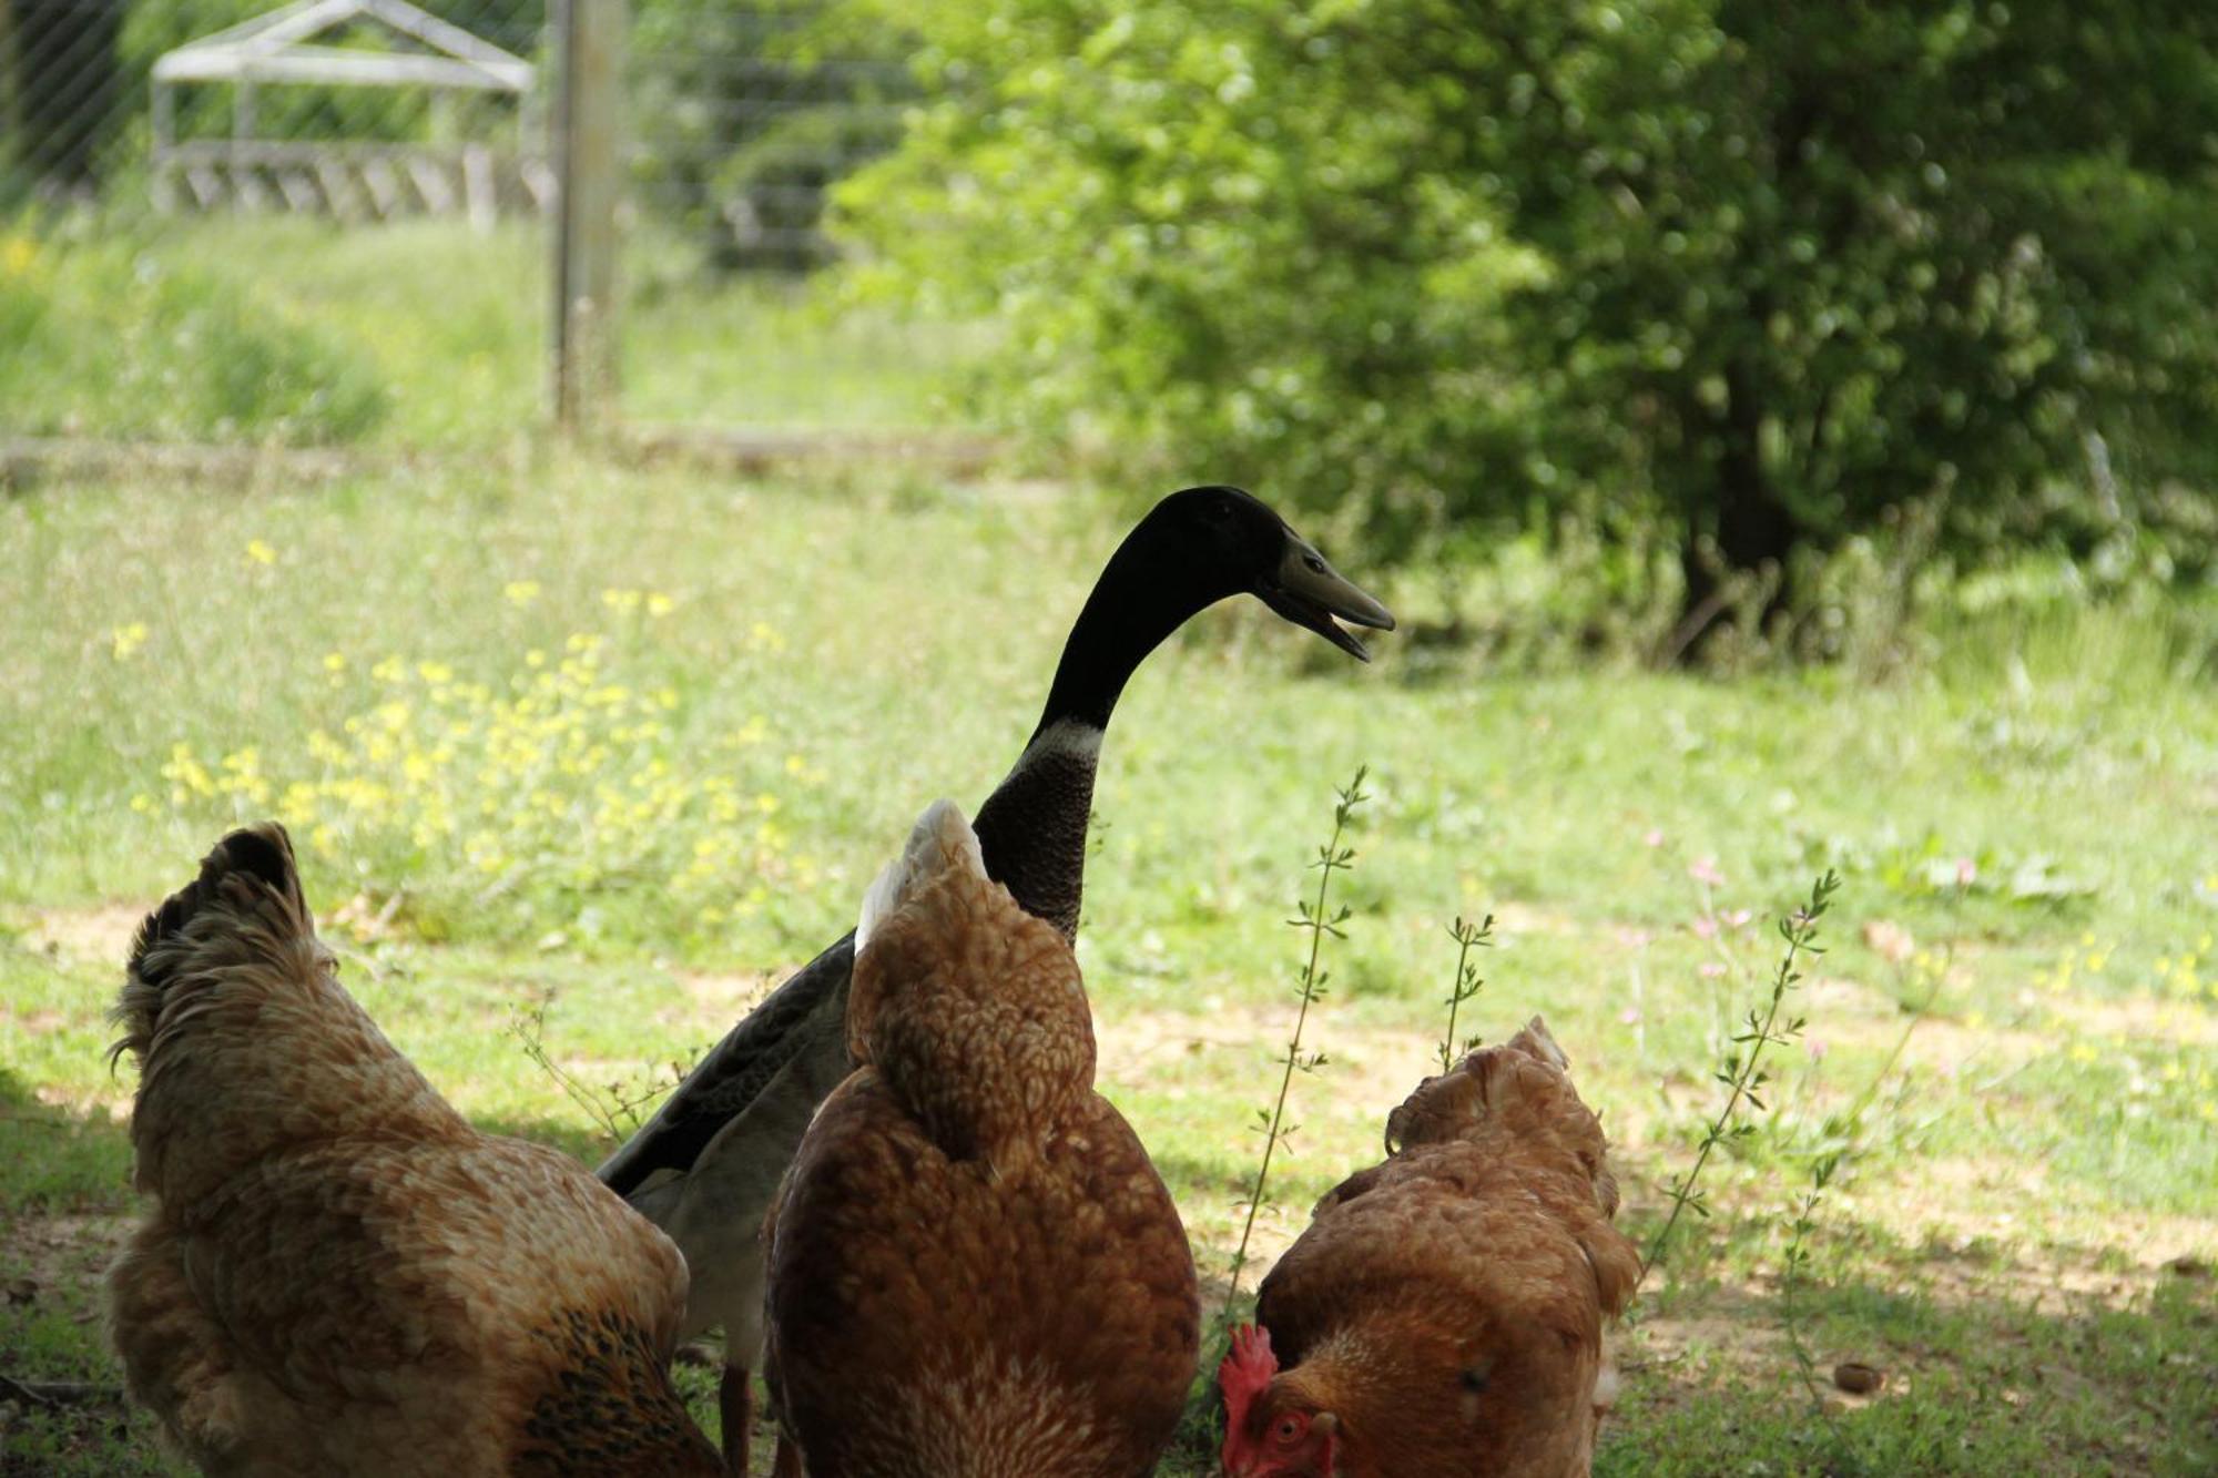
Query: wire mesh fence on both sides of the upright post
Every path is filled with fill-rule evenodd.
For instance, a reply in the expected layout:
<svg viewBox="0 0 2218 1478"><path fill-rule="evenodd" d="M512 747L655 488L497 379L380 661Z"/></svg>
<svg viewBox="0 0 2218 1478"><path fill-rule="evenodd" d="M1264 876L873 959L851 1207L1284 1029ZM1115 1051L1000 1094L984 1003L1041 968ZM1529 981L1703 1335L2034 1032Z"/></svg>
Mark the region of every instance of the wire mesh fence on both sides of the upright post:
<svg viewBox="0 0 2218 1478"><path fill-rule="evenodd" d="M612 0L572 0L610 4ZM832 311L898 47L630 0L617 411L947 419L963 331ZM543 424L561 0L0 0L0 435L475 444Z"/></svg>

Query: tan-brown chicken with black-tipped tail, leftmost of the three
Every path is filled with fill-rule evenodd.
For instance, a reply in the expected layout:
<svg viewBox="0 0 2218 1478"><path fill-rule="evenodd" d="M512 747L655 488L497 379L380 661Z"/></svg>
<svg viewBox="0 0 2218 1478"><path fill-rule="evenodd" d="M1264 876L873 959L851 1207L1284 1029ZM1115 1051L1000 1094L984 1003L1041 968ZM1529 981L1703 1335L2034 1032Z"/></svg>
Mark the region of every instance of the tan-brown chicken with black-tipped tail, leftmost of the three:
<svg viewBox="0 0 2218 1478"><path fill-rule="evenodd" d="M146 1223L109 1274L131 1396L206 1474L710 1478L670 1241L472 1130L339 988L279 826L140 928Z"/></svg>

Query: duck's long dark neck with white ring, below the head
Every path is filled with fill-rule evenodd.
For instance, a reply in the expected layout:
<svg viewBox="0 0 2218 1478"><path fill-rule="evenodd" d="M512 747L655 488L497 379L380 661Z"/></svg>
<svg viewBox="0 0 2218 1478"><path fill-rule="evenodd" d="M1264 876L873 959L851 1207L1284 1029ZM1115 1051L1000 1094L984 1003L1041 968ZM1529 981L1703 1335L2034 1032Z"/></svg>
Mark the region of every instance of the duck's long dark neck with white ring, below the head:
<svg viewBox="0 0 2218 1478"><path fill-rule="evenodd" d="M974 821L987 877L1065 939L1078 937L1093 770L1116 701L1164 637L1231 595L1158 559L1149 533L1147 524L1136 528L1093 584L1062 644L1031 743Z"/></svg>

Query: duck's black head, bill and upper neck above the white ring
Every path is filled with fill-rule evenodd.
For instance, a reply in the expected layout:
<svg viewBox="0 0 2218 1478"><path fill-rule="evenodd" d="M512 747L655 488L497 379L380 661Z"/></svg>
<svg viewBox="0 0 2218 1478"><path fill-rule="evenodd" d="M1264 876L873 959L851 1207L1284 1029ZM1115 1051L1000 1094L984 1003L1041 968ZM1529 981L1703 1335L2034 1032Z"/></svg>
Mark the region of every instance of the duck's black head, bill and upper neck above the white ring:
<svg viewBox="0 0 2218 1478"><path fill-rule="evenodd" d="M1393 630L1393 615L1344 579L1260 497L1207 486L1171 493L1125 537L1062 648L1040 715L1107 728L1133 668L1189 617L1231 595L1253 595L1362 661L1364 644L1340 621Z"/></svg>

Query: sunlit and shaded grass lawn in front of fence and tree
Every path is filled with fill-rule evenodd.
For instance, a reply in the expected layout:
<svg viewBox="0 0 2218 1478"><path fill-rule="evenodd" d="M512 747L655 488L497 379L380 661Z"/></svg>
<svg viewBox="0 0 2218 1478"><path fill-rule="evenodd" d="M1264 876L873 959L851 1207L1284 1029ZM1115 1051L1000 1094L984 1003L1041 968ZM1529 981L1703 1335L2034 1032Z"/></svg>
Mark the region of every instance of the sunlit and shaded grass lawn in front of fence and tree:
<svg viewBox="0 0 2218 1478"><path fill-rule="evenodd" d="M512 1027L597 1107L668 1081L852 923L932 797L985 797L1120 524L1027 488L459 462L0 504L0 1374L115 1380L102 1016L226 823L288 819L348 985L459 1107L592 1158ZM1355 668L1253 601L1198 621L1111 732L1080 959L1211 1296L1293 1019L1284 919L1369 763L1266 1254L1375 1158L1442 1034L1446 928L1488 912L1464 1025L1546 1012L1652 1234L1768 919L1837 868L1805 1034L1637 1303L1599 1471L2218 1469L2218 703L2169 632L1967 619L1859 686L1504 675L1393 635ZM1885 1389L1834 1391L1839 1360ZM169 1471L100 1405L0 1442L0 1474Z"/></svg>

